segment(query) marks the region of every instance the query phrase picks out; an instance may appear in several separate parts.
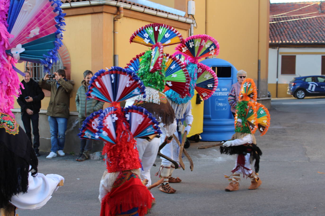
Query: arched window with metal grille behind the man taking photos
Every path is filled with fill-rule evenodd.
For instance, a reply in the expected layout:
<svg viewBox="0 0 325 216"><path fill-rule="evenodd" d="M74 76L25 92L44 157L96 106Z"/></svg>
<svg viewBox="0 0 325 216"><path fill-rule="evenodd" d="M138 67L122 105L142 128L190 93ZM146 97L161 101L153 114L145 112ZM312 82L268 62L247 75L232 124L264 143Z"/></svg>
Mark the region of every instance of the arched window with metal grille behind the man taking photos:
<svg viewBox="0 0 325 216"><path fill-rule="evenodd" d="M31 73L31 78L35 81L39 81L44 78L45 74L43 71L43 65L38 63L26 62L25 69ZM59 56L59 61L52 64L50 74L54 74L58 69L65 69L61 57ZM52 81L49 79L48 81Z"/></svg>

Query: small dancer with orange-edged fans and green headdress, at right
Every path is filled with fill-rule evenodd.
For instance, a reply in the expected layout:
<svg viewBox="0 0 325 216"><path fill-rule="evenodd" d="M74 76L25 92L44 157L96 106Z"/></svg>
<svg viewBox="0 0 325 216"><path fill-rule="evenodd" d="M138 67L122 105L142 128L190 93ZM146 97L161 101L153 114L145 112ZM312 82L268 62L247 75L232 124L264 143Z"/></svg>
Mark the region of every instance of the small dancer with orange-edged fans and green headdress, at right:
<svg viewBox="0 0 325 216"><path fill-rule="evenodd" d="M246 176L246 178L251 179L251 185L248 189L256 189L262 184L258 177L262 151L256 145L254 133L257 129L261 135L266 133L270 125L270 115L266 107L255 102L257 92L252 79L246 79L242 83L239 97L235 115L235 134L231 140L224 142L223 146L220 147L220 153L237 154L235 167L231 171L233 174L225 176L230 181L225 189L226 191L239 189L241 173L243 177ZM251 169L253 160L255 160L255 172Z"/></svg>

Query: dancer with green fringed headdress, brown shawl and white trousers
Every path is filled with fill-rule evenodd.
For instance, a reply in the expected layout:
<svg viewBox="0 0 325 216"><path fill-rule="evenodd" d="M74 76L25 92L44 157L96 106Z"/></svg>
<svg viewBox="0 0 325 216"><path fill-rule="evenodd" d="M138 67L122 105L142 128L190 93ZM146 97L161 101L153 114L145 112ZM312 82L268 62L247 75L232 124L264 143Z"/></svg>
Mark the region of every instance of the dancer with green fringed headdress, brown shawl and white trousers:
<svg viewBox="0 0 325 216"><path fill-rule="evenodd" d="M166 142L176 130L176 121L173 108L170 106L163 92L165 86L177 90L183 97L188 92L189 75L186 68L174 59L163 54L163 46L183 41L181 34L173 27L153 23L139 28L130 38L130 42L137 42L152 47L151 50L133 58L127 67L135 71L146 86L146 98L134 97L126 101L126 105L136 105L146 108L161 122L164 133L162 138ZM177 77L177 78L175 78ZM159 137L143 137L136 139L143 170L141 179L147 178L151 184L150 168L155 162L160 145ZM168 182L162 183L165 190L173 191Z"/></svg>

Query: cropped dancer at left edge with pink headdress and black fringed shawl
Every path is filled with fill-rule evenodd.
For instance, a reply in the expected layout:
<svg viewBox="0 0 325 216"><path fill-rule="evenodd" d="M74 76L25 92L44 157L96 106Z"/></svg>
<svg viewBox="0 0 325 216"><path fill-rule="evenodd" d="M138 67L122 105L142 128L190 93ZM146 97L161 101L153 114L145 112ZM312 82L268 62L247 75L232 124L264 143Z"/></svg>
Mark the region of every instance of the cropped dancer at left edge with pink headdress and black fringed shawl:
<svg viewBox="0 0 325 216"><path fill-rule="evenodd" d="M38 160L32 143L11 112L14 97L20 93L17 60L33 59L43 63L48 72L57 61L56 53L62 44L61 27L65 24L61 2L43 0L41 6L34 7L35 4L0 2L0 215L5 216L15 215L16 208L41 208L64 181L56 174L37 173ZM46 28L41 27L44 23L48 24ZM42 50L45 42L46 50Z"/></svg>

